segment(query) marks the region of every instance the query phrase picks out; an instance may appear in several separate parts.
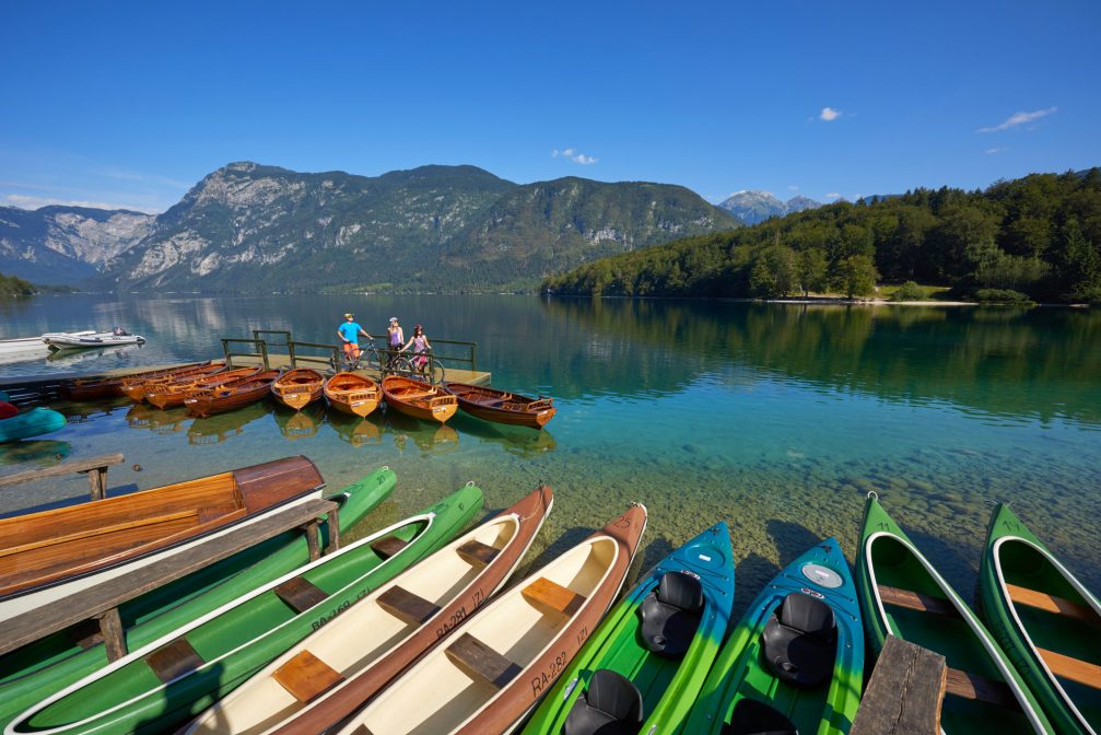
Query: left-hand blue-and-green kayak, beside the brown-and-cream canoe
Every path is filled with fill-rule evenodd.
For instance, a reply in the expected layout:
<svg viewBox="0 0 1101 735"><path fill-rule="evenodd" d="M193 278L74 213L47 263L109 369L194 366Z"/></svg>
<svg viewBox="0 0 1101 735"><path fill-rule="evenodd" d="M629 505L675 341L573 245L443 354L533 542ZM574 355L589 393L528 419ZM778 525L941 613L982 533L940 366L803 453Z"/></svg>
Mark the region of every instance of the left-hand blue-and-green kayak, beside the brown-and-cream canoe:
<svg viewBox="0 0 1101 735"><path fill-rule="evenodd" d="M727 633L732 556L726 523L666 556L597 628L524 733L675 732Z"/></svg>

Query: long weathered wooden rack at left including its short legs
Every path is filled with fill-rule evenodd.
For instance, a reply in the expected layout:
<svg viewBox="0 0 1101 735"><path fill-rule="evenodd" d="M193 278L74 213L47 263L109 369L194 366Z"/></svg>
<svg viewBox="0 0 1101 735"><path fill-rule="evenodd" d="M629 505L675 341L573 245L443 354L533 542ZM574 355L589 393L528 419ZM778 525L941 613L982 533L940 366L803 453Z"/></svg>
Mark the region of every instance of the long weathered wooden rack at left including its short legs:
<svg viewBox="0 0 1101 735"><path fill-rule="evenodd" d="M95 620L98 623L98 631L92 631L81 645L90 647L103 641L108 660L122 658L127 655L126 636L119 616L122 603L232 556L264 539L294 529L305 532L309 559L317 560L320 558L318 532L321 517L327 516L329 521L327 552L331 553L340 548L339 508L333 500L309 500L205 541L186 554L153 562L131 574L89 587L68 598L65 604L18 615L6 623L4 636L0 639L0 656L69 626ZM166 668L171 667L166 664Z"/></svg>

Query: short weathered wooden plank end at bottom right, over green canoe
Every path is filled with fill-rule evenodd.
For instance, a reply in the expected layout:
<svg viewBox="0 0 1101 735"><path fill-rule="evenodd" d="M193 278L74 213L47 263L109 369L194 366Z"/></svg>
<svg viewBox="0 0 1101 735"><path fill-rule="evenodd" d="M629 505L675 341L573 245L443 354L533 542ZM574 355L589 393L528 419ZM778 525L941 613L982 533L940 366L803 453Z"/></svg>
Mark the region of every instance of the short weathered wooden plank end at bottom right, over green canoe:
<svg viewBox="0 0 1101 735"><path fill-rule="evenodd" d="M937 735L945 657L887 636L850 735Z"/></svg>

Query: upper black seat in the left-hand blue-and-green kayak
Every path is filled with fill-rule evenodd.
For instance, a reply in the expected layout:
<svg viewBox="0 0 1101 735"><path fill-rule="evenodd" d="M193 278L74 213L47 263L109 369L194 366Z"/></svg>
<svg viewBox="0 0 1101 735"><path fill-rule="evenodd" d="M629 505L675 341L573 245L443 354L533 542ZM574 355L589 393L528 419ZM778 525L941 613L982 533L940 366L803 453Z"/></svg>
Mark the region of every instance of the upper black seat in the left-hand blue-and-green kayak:
<svg viewBox="0 0 1101 735"><path fill-rule="evenodd" d="M665 658L685 655L704 612L704 586L695 576L666 572L639 606L642 645Z"/></svg>

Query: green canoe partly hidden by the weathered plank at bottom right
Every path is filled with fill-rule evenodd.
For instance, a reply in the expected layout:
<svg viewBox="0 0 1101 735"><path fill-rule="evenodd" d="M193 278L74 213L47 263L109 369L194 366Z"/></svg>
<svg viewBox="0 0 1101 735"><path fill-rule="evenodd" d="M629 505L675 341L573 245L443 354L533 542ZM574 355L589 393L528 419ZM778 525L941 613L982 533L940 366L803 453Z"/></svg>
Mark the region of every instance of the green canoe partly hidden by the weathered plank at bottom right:
<svg viewBox="0 0 1101 735"><path fill-rule="evenodd" d="M940 712L947 735L1055 732L993 636L874 493L864 507L857 588L868 642L876 656L893 635L947 660Z"/></svg>

